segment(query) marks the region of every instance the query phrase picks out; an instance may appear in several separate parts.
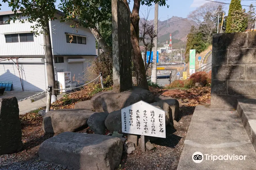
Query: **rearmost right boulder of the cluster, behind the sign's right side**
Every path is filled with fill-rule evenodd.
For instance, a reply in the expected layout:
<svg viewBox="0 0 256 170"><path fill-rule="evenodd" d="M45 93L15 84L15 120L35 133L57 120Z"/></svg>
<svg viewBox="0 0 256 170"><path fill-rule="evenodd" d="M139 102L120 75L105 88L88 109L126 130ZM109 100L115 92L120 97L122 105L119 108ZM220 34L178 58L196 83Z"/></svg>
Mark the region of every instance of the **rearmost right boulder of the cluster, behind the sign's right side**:
<svg viewBox="0 0 256 170"><path fill-rule="evenodd" d="M172 120L177 120L178 113L179 113L179 101L177 101L177 99L164 99L164 100L158 100L158 99L156 99L157 102L151 103L151 105L161 107L163 103L167 103L172 109Z"/></svg>

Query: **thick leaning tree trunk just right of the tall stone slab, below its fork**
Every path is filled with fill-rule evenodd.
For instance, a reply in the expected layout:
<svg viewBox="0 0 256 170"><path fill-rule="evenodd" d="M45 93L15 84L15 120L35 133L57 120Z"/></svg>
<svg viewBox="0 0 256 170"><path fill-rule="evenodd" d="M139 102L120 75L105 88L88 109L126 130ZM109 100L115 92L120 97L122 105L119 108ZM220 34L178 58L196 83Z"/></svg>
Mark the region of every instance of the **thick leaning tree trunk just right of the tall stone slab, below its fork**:
<svg viewBox="0 0 256 170"><path fill-rule="evenodd" d="M148 82L146 79L146 71L143 63L143 59L141 56L141 50L139 46L139 41L137 39L137 35L135 33L134 27L131 24L131 43L133 45L134 55L132 56L133 65L136 72L137 86L148 89Z"/></svg>

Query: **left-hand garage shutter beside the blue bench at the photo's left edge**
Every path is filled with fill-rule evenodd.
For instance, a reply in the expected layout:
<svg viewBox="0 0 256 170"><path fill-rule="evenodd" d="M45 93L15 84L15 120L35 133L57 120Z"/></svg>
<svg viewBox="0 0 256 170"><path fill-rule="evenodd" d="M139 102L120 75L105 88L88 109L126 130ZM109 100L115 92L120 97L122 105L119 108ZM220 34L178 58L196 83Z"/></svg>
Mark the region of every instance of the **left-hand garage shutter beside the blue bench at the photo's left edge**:
<svg viewBox="0 0 256 170"><path fill-rule="evenodd" d="M20 66L20 64L19 64ZM19 67L20 69L20 67ZM17 69L17 65L14 64L0 64L0 81L12 81L13 90L22 91L22 86L20 82L20 75Z"/></svg>

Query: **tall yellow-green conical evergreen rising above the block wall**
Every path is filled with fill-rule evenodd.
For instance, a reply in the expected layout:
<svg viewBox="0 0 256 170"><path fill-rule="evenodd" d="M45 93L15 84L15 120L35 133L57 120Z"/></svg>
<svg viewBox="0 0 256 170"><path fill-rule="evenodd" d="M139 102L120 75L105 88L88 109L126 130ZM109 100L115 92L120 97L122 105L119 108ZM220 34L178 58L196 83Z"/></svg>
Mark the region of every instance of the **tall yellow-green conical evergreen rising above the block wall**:
<svg viewBox="0 0 256 170"><path fill-rule="evenodd" d="M231 0L226 25L226 33L242 32L247 27L245 12L240 0Z"/></svg>

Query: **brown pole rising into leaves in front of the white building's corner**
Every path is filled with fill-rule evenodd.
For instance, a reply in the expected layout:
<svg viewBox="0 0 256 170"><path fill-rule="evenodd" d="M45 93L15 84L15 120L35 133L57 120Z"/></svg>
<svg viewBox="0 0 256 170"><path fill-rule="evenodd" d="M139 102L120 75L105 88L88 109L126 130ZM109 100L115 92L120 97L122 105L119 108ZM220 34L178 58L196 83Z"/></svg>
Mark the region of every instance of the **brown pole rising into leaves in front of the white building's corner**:
<svg viewBox="0 0 256 170"><path fill-rule="evenodd" d="M55 88L55 75L53 67L53 56L51 49L51 35L49 31L49 20L46 21L46 27L44 28L44 49L45 49L45 59L46 59L46 71L48 86ZM57 100L56 90L52 91L51 103Z"/></svg>

